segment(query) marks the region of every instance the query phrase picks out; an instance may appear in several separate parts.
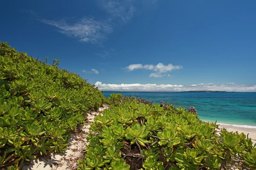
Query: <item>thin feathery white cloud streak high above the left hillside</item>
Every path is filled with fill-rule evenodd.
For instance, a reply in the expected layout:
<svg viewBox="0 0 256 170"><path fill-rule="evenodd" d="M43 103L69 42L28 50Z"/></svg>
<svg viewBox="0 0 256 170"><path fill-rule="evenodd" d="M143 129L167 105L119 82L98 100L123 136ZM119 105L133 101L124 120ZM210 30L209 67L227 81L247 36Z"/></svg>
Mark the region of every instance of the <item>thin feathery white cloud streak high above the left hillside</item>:
<svg viewBox="0 0 256 170"><path fill-rule="evenodd" d="M83 18L76 23L67 23L65 20L41 20L41 22L55 26L58 31L70 37L76 37L83 42L99 44L113 31L112 25L107 22L96 21L93 18Z"/></svg>

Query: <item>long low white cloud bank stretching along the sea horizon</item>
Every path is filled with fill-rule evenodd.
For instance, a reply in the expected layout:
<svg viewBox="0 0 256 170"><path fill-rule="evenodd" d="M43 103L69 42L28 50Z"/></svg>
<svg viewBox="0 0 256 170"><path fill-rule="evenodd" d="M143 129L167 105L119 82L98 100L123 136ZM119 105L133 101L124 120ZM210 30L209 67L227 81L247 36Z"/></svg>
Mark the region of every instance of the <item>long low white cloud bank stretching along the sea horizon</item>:
<svg viewBox="0 0 256 170"><path fill-rule="evenodd" d="M105 84L96 82L96 87L103 91L235 91L256 92L256 84L207 83L197 85L157 85L157 84Z"/></svg>

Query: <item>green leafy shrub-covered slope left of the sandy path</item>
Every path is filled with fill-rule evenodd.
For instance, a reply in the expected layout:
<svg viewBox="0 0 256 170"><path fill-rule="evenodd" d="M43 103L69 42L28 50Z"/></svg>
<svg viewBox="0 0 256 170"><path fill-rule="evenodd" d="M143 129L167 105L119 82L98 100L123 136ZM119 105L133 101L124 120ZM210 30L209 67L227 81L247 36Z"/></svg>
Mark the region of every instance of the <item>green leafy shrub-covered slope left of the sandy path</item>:
<svg viewBox="0 0 256 170"><path fill-rule="evenodd" d="M0 167L17 169L47 152L64 152L70 131L104 96L77 74L39 62L0 42Z"/></svg>

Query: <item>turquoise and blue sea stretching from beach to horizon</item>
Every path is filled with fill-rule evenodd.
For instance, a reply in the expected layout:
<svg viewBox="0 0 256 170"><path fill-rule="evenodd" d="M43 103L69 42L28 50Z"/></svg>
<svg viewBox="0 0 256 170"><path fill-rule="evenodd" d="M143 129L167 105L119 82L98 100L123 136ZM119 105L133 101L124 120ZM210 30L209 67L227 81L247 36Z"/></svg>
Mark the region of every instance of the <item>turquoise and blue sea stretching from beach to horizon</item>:
<svg viewBox="0 0 256 170"><path fill-rule="evenodd" d="M198 117L204 121L256 128L256 93L219 93L219 92L118 92L126 96L144 97L153 102L167 102L189 108L194 106Z"/></svg>

